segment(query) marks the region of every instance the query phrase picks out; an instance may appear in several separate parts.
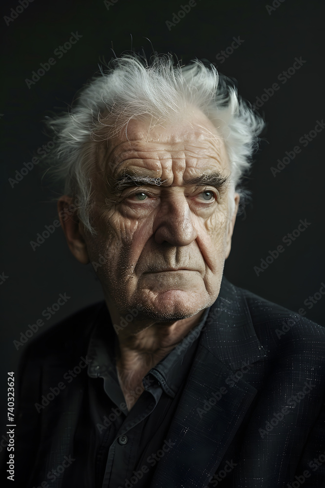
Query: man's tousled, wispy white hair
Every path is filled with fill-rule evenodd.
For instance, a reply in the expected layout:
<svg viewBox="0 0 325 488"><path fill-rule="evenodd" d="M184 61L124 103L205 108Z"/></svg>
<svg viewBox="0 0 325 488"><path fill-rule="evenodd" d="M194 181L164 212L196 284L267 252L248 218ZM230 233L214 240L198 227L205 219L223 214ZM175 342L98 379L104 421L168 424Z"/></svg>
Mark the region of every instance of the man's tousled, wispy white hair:
<svg viewBox="0 0 325 488"><path fill-rule="evenodd" d="M100 73L78 93L69 113L47 120L57 137L48 157L51 172L66 194L78 196L85 228L96 233L90 209L98 142L126 130L134 118L161 123L184 117L190 107L199 109L224 139L231 185L238 190L265 122L237 96L229 78L206 61L181 66L171 54L155 54L148 61L134 52L112 59Z"/></svg>

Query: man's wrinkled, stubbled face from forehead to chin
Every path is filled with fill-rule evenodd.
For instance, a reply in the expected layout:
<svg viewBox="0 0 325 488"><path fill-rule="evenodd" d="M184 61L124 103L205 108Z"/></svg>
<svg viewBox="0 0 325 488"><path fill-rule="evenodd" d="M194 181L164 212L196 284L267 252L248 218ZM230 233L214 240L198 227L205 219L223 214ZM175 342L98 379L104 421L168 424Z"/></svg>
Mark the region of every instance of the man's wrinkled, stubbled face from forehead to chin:
<svg viewBox="0 0 325 488"><path fill-rule="evenodd" d="M107 302L159 322L212 305L238 195L224 183L229 161L211 122L201 112L151 128L132 120L127 138L100 151L103 177L91 213L97 235L84 238L90 261L104 263L97 275Z"/></svg>

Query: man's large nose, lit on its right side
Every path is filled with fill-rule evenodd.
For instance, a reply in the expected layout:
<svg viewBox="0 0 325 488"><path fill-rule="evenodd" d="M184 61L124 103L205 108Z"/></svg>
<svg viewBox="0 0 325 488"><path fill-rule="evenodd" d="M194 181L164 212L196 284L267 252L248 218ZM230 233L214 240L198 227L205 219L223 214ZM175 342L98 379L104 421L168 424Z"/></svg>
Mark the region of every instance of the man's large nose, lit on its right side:
<svg viewBox="0 0 325 488"><path fill-rule="evenodd" d="M167 242L173 246L189 245L196 239L197 231L184 194L170 195L161 202L153 222L153 234L157 244Z"/></svg>

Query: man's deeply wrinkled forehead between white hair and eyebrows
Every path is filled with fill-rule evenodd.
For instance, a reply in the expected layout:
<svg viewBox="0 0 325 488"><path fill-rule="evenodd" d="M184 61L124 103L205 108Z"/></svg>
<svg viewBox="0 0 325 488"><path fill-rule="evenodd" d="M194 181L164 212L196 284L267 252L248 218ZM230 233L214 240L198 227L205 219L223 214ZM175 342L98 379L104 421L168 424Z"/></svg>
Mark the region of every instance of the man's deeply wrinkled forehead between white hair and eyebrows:
<svg viewBox="0 0 325 488"><path fill-rule="evenodd" d="M174 179L175 172L184 177L216 170L229 174L224 140L199 111L176 122L132 119L118 136L101 145L99 153L108 178L126 169L167 179Z"/></svg>

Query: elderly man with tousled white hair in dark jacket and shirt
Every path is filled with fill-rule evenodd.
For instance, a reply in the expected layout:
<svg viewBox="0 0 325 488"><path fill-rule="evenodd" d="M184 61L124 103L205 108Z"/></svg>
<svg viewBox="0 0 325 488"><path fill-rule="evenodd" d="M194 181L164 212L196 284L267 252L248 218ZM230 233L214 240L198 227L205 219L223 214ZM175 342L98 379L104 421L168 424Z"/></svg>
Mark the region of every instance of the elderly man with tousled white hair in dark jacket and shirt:
<svg viewBox="0 0 325 488"><path fill-rule="evenodd" d="M264 122L212 65L129 53L49 124L105 302L28 349L19 486L324 487L324 329L223 278Z"/></svg>

